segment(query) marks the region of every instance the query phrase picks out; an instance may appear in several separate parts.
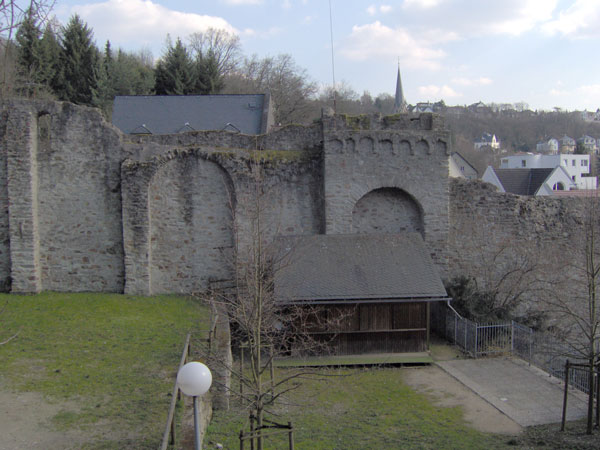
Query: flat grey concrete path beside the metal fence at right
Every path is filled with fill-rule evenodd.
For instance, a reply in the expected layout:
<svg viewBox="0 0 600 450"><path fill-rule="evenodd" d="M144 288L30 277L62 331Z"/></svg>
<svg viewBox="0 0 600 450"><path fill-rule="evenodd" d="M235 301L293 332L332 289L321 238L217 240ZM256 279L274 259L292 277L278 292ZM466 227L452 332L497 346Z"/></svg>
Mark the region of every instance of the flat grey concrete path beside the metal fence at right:
<svg viewBox="0 0 600 450"><path fill-rule="evenodd" d="M562 382L518 358L460 359L437 364L521 426L561 421ZM585 395L569 390L567 420L586 414Z"/></svg>

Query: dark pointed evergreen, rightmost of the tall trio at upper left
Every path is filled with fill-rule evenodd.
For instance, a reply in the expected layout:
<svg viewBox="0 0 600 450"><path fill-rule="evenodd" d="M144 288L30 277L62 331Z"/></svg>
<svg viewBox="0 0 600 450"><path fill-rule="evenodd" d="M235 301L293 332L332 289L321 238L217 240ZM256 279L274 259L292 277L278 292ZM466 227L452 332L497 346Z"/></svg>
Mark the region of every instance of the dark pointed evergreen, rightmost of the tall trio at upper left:
<svg viewBox="0 0 600 450"><path fill-rule="evenodd" d="M61 65L63 73L59 96L62 100L94 104L98 85L99 52L92 41L92 30L74 15L63 28Z"/></svg>

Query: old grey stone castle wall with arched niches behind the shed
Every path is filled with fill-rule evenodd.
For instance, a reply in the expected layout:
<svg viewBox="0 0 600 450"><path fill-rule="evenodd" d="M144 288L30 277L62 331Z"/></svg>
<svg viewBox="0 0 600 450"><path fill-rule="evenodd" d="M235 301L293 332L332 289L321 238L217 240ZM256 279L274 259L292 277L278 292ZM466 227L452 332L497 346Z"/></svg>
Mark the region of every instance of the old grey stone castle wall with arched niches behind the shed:
<svg viewBox="0 0 600 450"><path fill-rule="evenodd" d="M449 143L431 114L329 116L264 136L126 136L90 108L4 104L0 287L203 290L231 278L234 251L251 246L257 201L268 237L420 232L445 278L508 240L568 244L581 203L451 181Z"/></svg>

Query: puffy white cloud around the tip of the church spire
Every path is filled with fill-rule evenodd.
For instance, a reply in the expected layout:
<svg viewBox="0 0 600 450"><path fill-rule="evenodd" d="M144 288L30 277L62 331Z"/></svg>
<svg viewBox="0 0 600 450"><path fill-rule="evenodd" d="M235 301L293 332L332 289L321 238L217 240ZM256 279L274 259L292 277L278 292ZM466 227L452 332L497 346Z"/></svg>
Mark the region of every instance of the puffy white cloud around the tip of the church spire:
<svg viewBox="0 0 600 450"><path fill-rule="evenodd" d="M415 38L404 28L392 29L379 21L352 27L352 33L342 41L339 52L353 61L389 58L398 56L406 67L439 68L444 51L434 48L440 40L453 39L446 33L432 33L431 40Z"/></svg>

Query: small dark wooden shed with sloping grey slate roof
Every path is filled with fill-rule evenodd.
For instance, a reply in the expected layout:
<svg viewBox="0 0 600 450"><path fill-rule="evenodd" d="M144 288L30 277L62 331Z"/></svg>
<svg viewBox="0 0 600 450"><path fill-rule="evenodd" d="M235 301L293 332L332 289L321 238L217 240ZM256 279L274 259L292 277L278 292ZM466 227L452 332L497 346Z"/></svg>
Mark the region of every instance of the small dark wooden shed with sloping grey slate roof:
<svg viewBox="0 0 600 450"><path fill-rule="evenodd" d="M431 302L449 298L419 233L292 236L281 248L275 296L306 305L303 332L332 354L429 348Z"/></svg>

